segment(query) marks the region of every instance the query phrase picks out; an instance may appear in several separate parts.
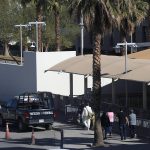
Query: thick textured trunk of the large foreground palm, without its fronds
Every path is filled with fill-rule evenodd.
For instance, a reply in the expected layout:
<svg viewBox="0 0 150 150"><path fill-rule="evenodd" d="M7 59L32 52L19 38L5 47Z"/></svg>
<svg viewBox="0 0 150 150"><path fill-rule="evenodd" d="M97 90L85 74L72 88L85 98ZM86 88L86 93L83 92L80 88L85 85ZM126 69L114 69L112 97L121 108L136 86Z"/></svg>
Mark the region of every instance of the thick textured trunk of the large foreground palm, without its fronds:
<svg viewBox="0 0 150 150"><path fill-rule="evenodd" d="M100 120L101 105L101 35L93 36L93 110L95 112L94 145L103 146L103 134Z"/></svg>

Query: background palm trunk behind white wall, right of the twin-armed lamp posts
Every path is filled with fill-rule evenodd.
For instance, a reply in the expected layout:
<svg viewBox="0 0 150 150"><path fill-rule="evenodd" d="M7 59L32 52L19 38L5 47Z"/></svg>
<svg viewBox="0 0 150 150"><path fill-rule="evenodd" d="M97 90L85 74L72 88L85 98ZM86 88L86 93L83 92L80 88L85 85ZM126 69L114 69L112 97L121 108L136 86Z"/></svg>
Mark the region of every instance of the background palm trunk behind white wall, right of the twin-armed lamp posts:
<svg viewBox="0 0 150 150"><path fill-rule="evenodd" d="M56 51L60 51L60 13L55 11Z"/></svg>

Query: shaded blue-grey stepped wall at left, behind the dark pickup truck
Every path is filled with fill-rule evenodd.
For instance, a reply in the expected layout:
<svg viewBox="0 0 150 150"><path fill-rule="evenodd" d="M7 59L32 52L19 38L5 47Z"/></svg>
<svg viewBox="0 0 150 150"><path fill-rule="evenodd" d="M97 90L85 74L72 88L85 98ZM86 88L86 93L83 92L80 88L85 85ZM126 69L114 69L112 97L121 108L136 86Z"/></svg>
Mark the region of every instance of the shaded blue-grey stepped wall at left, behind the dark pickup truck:
<svg viewBox="0 0 150 150"><path fill-rule="evenodd" d="M27 90L36 90L35 53L25 53L23 66L0 63L0 99L10 97Z"/></svg>

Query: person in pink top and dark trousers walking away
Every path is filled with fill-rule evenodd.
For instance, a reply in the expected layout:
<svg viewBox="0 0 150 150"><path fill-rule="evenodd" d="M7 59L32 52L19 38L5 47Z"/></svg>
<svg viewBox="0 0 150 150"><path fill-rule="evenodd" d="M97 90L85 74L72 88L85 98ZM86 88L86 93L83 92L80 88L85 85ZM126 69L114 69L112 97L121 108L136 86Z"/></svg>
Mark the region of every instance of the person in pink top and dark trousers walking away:
<svg viewBox="0 0 150 150"><path fill-rule="evenodd" d="M111 108L110 108L109 111L107 112L107 116L108 116L109 121L110 121L109 135L112 136L112 128L113 128L113 124L114 124L115 114L114 114L114 112L112 111Z"/></svg>

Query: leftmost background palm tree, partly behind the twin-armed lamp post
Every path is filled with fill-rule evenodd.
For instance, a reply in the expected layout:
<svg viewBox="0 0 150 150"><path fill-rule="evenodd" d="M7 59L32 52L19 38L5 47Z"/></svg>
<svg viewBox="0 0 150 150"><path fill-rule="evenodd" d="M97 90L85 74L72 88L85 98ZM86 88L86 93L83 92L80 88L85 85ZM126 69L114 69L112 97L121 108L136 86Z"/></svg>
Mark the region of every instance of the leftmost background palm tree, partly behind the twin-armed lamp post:
<svg viewBox="0 0 150 150"><path fill-rule="evenodd" d="M21 4L25 7L28 3L33 2L36 5L36 17L38 22L42 22L43 13L47 7L47 0L21 0ZM42 24L38 25L38 48L42 50Z"/></svg>

